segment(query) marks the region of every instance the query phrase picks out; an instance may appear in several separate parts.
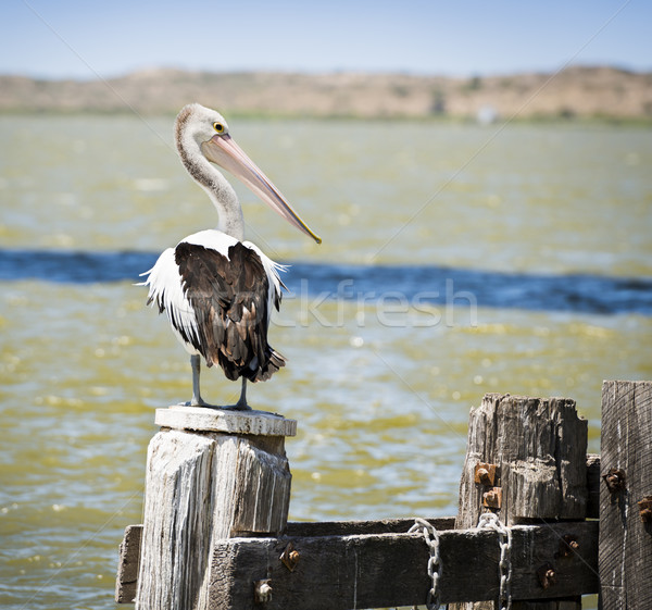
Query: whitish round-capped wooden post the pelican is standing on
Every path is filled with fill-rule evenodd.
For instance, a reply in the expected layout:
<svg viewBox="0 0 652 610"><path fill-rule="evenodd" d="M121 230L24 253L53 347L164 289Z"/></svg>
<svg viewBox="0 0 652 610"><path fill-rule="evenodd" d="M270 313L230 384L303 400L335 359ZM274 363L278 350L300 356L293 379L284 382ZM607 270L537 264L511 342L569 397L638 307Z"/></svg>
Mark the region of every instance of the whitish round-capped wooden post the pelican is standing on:
<svg viewBox="0 0 652 610"><path fill-rule="evenodd" d="M158 409L147 457L136 608L208 610L218 540L280 534L296 422L261 411Z"/></svg>

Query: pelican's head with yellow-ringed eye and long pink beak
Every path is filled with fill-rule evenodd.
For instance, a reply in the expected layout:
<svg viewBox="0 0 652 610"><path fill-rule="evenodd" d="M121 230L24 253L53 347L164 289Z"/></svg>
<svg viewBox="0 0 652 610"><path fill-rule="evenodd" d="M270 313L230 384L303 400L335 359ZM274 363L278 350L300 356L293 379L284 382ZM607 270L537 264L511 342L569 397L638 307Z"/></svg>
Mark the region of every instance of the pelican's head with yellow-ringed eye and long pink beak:
<svg viewBox="0 0 652 610"><path fill-rule="evenodd" d="M198 103L188 104L177 116L175 132L179 151L181 142L190 138L211 163L231 173L290 224L317 244L322 242L322 238L299 217L272 180L231 138L222 114Z"/></svg>

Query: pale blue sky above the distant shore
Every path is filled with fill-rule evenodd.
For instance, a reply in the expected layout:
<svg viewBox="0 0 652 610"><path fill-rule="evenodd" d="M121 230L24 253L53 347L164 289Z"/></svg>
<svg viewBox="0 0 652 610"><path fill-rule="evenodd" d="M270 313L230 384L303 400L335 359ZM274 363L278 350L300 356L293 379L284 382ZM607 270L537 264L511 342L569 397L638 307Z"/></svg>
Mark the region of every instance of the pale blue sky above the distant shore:
<svg viewBox="0 0 652 610"><path fill-rule="evenodd" d="M652 71L649 0L3 0L0 74Z"/></svg>

